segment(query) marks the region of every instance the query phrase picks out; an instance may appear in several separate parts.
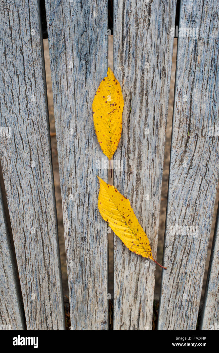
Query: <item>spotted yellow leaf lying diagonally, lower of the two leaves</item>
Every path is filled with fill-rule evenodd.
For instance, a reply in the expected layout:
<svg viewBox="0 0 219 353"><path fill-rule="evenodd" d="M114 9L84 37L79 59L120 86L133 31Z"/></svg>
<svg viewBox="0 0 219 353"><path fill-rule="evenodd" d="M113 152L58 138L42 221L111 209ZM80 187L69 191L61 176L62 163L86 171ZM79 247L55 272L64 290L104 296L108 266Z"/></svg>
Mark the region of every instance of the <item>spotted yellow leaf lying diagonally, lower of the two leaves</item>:
<svg viewBox="0 0 219 353"><path fill-rule="evenodd" d="M98 179L100 182L98 208L103 219L129 250L156 262L148 237L140 226L129 199L121 195L113 185L106 184L99 177Z"/></svg>

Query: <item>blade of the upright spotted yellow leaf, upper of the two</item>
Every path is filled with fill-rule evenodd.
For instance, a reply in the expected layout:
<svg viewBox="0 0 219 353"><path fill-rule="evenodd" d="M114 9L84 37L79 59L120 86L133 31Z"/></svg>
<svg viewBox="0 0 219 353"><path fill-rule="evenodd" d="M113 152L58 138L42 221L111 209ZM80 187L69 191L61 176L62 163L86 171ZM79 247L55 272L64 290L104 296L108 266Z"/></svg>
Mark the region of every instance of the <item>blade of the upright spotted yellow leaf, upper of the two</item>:
<svg viewBox="0 0 219 353"><path fill-rule="evenodd" d="M119 81L108 67L93 100L94 128L104 154L111 159L120 141L122 131L123 95Z"/></svg>

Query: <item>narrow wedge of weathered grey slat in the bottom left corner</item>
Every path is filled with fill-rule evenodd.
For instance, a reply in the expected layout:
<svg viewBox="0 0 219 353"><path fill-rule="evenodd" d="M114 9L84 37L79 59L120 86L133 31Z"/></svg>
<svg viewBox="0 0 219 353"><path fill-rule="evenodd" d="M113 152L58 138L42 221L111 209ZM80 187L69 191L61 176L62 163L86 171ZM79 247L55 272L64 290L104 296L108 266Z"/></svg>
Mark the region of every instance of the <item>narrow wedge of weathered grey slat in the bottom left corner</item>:
<svg viewBox="0 0 219 353"><path fill-rule="evenodd" d="M24 330L18 279L0 187L0 330Z"/></svg>

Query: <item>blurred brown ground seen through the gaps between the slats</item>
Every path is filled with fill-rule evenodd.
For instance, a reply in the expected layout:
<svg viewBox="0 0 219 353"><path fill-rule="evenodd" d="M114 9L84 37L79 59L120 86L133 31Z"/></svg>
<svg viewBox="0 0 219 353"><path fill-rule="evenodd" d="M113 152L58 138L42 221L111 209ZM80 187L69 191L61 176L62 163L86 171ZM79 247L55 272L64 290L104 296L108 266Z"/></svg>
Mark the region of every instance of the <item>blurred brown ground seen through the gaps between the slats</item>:
<svg viewBox="0 0 219 353"><path fill-rule="evenodd" d="M55 120L54 120L48 39L44 39L43 43L44 43L44 56L45 56L45 67L46 67L46 83L47 83L47 94L48 94L52 161L53 161L53 172L54 172L55 193L56 193L56 207L57 207L57 217L58 217L58 233L59 233L60 256L61 256L61 267L62 267L63 293L64 295L68 296L68 277L67 277L67 267L66 267L66 259L65 259L62 199L61 199L60 179L59 179L59 170L58 170L58 155L57 155L57 144L56 144L56 130L55 130ZM160 217L159 217L158 252L157 252L157 261L159 263L162 263L165 216L166 216L166 207L167 207L171 127L172 127L172 116L173 116L174 83L175 83L175 70L176 70L176 50L177 50L177 39L175 38L174 49L173 49L173 62L172 62L172 70L171 70L169 108L168 108L168 120L167 120L167 129L166 129L166 143L165 143L162 193L161 193L161 207L160 207ZM109 57L108 64L113 69L113 36L109 36L109 56L108 57ZM218 199L219 199L219 191L217 192L217 198L216 198L215 207L214 207L214 217L213 217L213 223L212 223L211 237L209 241L209 249L208 249L207 262L206 262L206 270L205 270L205 278L203 283L202 295L204 294L204 287L206 284L207 268L208 268L209 257L211 252ZM161 268L157 266L156 282L155 282L155 292L157 293L156 295L158 295L159 293L160 281L161 281ZM110 292L112 291L112 288L113 288L113 235L109 234L109 289L110 289Z"/></svg>

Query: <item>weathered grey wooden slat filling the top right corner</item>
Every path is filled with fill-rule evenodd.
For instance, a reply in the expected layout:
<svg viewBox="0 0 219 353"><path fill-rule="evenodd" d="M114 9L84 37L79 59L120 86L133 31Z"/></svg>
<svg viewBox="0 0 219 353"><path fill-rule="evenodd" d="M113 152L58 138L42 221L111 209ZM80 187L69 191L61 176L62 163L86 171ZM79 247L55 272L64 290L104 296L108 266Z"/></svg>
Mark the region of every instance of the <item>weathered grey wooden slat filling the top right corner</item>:
<svg viewBox="0 0 219 353"><path fill-rule="evenodd" d="M178 38L159 330L197 323L219 175L218 21L217 1L181 1L179 28L197 35Z"/></svg>

